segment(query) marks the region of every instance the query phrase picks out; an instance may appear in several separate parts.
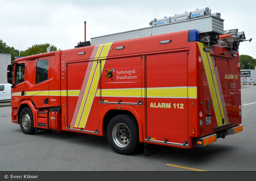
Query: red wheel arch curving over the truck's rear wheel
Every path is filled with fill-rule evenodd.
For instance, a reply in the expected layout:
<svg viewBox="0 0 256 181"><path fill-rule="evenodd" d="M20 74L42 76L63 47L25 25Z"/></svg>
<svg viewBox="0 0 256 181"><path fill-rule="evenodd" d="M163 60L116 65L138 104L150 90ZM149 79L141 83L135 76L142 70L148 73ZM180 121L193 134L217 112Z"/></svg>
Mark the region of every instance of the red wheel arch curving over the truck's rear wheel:
<svg viewBox="0 0 256 181"><path fill-rule="evenodd" d="M142 143L143 142L143 131L142 131L142 124L141 124L141 119L139 117L139 115L137 114L137 112L130 108L129 106L119 106L119 108L121 109L117 109L117 106L109 106L108 108L106 108L103 113L102 116L100 117L100 120L102 120L102 124L101 124L101 129L102 129L102 134L106 133L107 127L108 127L108 123L109 121L117 116L117 115L121 115L121 114L129 114L135 117L135 119L137 120L137 124L139 127L139 141Z"/></svg>

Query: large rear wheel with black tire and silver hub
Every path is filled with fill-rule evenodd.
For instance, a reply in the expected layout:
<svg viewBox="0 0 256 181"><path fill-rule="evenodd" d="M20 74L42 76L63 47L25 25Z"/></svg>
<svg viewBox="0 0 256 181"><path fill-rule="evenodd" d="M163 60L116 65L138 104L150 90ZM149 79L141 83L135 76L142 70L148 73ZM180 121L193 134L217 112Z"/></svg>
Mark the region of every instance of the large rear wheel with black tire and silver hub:
<svg viewBox="0 0 256 181"><path fill-rule="evenodd" d="M139 127L134 116L123 114L113 117L107 128L108 143L119 154L135 153L139 148Z"/></svg>

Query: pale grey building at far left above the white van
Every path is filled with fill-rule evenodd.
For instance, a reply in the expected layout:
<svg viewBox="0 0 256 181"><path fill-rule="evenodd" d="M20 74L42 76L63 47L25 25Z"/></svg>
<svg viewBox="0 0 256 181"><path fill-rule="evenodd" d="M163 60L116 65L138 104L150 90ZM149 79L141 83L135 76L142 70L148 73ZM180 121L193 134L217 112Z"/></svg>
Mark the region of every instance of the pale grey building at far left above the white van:
<svg viewBox="0 0 256 181"><path fill-rule="evenodd" d="M11 64L11 54L0 53L0 83L7 83L7 66Z"/></svg>

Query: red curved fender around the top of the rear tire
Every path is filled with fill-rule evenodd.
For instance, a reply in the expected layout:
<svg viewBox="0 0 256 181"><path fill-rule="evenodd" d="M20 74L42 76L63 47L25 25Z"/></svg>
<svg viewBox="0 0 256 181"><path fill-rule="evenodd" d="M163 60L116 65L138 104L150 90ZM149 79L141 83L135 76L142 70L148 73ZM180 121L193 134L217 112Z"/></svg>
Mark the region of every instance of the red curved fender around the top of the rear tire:
<svg viewBox="0 0 256 181"><path fill-rule="evenodd" d="M135 116L135 118L137 119L138 126L139 126L139 141L142 143L143 142L143 130L142 130L142 125L141 125L141 118L137 114L137 111L132 109L130 106L118 105L118 107L120 107L121 110L130 111ZM100 120L104 120L104 116L106 115L106 113L110 110L113 110L113 109L114 110L119 110L119 109L117 109L116 105L108 106L104 111L102 111L102 114L100 116ZM102 124L99 125L99 128L100 128L100 130L103 130L103 122L102 122ZM103 131L102 131L102 136L103 136Z"/></svg>

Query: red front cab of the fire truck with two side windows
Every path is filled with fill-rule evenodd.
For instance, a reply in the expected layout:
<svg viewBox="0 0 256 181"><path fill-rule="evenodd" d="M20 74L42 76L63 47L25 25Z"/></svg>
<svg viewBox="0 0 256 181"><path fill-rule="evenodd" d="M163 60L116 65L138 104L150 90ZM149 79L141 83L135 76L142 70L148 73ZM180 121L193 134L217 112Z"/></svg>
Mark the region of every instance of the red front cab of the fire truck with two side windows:
<svg viewBox="0 0 256 181"><path fill-rule="evenodd" d="M61 51L55 51L21 57L7 68L7 81L12 85L12 122L26 133L34 127L49 129L49 112L61 109L60 56Z"/></svg>

